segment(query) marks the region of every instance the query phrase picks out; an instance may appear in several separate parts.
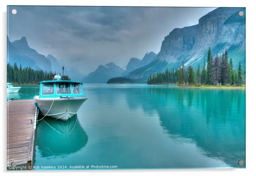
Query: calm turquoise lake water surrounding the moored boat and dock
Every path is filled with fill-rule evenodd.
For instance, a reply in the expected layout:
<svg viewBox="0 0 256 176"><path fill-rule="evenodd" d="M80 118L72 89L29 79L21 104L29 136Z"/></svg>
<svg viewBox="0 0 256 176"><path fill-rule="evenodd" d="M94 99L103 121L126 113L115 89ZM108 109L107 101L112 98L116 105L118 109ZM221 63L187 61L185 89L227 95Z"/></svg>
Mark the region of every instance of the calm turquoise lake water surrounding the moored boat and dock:
<svg viewBox="0 0 256 176"><path fill-rule="evenodd" d="M37 169L245 168L245 89L83 87L88 100L76 117L37 124ZM26 86L18 98L37 92Z"/></svg>

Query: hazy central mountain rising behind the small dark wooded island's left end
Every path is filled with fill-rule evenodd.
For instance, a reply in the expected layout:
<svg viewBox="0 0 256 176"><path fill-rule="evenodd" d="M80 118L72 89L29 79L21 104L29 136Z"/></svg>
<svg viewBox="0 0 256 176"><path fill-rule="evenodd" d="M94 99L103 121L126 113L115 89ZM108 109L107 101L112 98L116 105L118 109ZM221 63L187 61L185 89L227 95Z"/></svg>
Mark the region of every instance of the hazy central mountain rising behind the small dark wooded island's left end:
<svg viewBox="0 0 256 176"><path fill-rule="evenodd" d="M94 72L82 79L83 83L106 83L110 78L119 77L124 70L113 62L100 65Z"/></svg>

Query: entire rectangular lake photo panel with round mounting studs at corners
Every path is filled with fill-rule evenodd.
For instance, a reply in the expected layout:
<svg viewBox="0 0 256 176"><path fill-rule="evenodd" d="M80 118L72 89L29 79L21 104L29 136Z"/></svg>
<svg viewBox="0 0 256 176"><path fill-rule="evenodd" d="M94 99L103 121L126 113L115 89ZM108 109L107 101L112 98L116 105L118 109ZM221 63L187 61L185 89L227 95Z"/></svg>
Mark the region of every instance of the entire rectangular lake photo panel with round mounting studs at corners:
<svg viewBox="0 0 256 176"><path fill-rule="evenodd" d="M245 16L7 6L7 169L245 168Z"/></svg>

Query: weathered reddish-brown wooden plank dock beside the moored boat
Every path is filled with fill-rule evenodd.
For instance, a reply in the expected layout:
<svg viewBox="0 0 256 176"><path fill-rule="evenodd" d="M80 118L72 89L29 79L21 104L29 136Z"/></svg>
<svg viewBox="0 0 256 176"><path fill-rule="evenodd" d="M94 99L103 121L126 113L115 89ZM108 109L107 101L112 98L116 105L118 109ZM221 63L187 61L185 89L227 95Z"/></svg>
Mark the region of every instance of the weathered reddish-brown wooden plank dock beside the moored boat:
<svg viewBox="0 0 256 176"><path fill-rule="evenodd" d="M36 120L34 100L7 102L7 170L33 168Z"/></svg>

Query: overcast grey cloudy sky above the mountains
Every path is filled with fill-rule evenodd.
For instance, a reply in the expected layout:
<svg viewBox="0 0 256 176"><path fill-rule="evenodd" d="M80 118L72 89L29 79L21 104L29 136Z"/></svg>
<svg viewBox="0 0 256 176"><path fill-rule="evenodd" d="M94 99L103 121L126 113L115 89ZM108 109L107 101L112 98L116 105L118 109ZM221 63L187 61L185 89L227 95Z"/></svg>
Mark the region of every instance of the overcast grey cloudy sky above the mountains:
<svg viewBox="0 0 256 176"><path fill-rule="evenodd" d="M17 14L11 14L15 8ZM10 41L26 36L38 53L87 75L102 64L125 66L129 59L160 51L174 28L198 24L215 8L9 6Z"/></svg>

